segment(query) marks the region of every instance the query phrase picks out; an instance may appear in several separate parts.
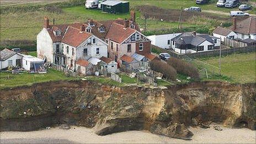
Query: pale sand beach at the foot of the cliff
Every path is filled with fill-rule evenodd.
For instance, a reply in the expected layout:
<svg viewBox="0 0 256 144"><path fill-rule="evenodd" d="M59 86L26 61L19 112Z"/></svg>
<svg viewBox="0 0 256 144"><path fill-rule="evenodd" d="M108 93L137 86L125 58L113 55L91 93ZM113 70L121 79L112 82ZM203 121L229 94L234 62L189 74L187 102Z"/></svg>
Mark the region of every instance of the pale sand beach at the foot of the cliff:
<svg viewBox="0 0 256 144"><path fill-rule="evenodd" d="M249 129L224 128L222 131L191 127L193 140L159 136L148 131L126 131L98 136L92 129L72 126L70 130L58 127L30 132L1 132L0 143L255 143L256 131Z"/></svg>

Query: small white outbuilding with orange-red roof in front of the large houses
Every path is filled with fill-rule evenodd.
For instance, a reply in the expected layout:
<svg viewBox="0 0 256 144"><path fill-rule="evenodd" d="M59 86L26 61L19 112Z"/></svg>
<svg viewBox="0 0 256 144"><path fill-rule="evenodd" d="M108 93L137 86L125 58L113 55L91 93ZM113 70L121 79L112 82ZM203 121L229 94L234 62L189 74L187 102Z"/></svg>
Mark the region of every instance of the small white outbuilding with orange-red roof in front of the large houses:
<svg viewBox="0 0 256 144"><path fill-rule="evenodd" d="M107 73L116 73L118 70L118 63L111 60L110 58L107 57L101 57L100 60L102 60L102 66L103 68L106 68Z"/></svg>

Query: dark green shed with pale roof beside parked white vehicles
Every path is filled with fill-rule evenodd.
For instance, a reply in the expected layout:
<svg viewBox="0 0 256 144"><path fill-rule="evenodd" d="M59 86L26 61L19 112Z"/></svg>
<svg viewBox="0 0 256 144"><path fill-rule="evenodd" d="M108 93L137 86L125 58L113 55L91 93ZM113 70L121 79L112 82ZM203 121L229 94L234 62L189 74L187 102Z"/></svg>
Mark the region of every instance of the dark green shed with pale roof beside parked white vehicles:
<svg viewBox="0 0 256 144"><path fill-rule="evenodd" d="M105 1L101 3L102 12L129 13L130 3L126 1Z"/></svg>

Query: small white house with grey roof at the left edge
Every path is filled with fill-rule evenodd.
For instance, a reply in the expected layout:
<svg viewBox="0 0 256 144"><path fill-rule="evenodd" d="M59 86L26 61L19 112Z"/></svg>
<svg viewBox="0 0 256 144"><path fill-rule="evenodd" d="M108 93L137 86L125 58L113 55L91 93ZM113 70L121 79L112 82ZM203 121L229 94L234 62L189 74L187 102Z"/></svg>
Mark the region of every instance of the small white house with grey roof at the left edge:
<svg viewBox="0 0 256 144"><path fill-rule="evenodd" d="M9 49L4 49L0 53L0 70L7 67L21 66L22 56L17 52Z"/></svg>

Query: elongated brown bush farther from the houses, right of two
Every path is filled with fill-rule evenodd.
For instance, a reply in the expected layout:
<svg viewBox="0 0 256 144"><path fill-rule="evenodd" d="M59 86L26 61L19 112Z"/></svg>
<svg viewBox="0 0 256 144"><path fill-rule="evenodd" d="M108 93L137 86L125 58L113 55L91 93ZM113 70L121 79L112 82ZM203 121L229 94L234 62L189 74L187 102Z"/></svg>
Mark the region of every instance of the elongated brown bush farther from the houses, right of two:
<svg viewBox="0 0 256 144"><path fill-rule="evenodd" d="M167 63L174 67L178 73L190 76L195 80L199 79L199 71L193 64L174 57L169 58Z"/></svg>

